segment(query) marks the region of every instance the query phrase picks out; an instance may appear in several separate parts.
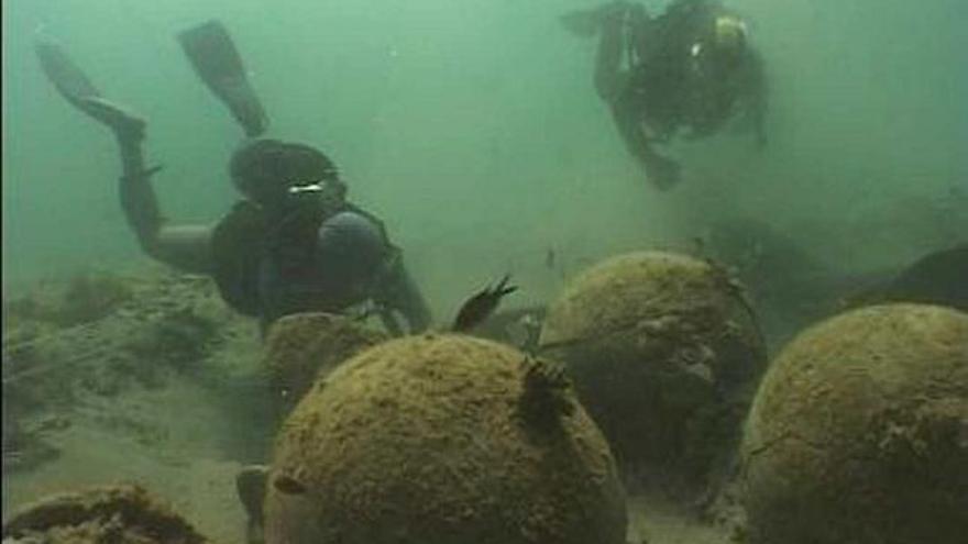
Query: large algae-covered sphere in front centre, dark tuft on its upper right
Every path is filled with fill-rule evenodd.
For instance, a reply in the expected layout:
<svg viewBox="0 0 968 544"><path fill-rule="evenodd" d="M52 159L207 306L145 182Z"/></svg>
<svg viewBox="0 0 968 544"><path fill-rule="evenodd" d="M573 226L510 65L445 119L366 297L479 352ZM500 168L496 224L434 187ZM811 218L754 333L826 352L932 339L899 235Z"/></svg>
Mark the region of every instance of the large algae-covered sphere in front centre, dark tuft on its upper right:
<svg viewBox="0 0 968 544"><path fill-rule="evenodd" d="M624 544L608 445L547 364L462 335L374 346L276 438L268 544Z"/></svg>

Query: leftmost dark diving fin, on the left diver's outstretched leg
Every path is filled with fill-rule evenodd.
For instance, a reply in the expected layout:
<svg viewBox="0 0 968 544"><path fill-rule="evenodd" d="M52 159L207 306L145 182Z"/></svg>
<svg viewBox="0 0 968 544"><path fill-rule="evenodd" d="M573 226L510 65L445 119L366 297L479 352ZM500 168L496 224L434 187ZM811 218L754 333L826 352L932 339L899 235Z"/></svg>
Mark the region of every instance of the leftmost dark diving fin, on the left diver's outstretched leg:
<svg viewBox="0 0 968 544"><path fill-rule="evenodd" d="M38 37L34 43L34 51L44 75L72 106L107 124L118 134L135 138L143 135L144 120L106 100L61 44L47 37Z"/></svg>

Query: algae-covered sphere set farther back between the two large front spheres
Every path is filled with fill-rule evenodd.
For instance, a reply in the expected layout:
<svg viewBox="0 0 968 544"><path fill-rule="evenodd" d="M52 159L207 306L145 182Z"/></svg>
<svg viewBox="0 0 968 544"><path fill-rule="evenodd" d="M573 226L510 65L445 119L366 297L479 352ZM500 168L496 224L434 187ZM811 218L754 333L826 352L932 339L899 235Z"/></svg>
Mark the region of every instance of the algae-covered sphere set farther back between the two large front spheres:
<svg viewBox="0 0 968 544"><path fill-rule="evenodd" d="M540 345L568 365L622 465L697 485L735 443L766 360L735 280L661 252L576 277L549 308Z"/></svg>

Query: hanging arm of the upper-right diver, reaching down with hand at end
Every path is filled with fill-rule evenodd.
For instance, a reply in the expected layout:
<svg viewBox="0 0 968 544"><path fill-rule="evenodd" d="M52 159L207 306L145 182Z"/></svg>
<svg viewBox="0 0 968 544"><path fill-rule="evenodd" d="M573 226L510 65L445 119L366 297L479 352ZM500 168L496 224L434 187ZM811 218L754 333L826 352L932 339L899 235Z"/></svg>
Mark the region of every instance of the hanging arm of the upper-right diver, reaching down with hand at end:
<svg viewBox="0 0 968 544"><path fill-rule="evenodd" d="M666 190L679 181L679 164L658 154L642 130L645 118L642 100L631 87L612 102L612 118L626 148L646 170L646 176L657 188Z"/></svg>

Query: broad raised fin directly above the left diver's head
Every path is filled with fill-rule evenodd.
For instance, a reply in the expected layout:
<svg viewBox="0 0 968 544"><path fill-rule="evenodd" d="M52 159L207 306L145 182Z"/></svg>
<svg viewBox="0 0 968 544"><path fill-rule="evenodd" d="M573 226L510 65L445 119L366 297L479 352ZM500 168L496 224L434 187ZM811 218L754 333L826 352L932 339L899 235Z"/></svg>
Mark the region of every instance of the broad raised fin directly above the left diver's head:
<svg viewBox="0 0 968 544"><path fill-rule="evenodd" d="M245 134L254 137L264 133L268 118L226 26L208 21L178 33L178 42L198 77L229 108Z"/></svg>

